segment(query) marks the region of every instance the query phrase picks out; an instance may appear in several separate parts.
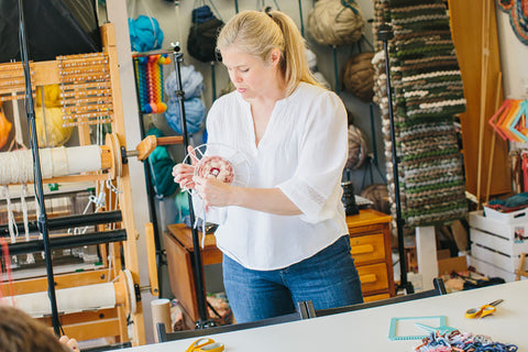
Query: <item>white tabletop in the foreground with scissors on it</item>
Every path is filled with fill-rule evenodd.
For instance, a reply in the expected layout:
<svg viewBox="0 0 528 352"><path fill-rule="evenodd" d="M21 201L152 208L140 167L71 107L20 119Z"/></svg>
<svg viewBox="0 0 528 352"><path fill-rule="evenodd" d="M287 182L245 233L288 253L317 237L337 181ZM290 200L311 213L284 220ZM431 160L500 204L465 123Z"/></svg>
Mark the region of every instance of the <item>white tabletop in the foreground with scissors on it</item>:
<svg viewBox="0 0 528 352"><path fill-rule="evenodd" d="M497 311L483 319L466 319L468 308L498 298ZM447 316L447 324L485 334L528 351L528 280L363 309L333 316L208 336L223 342L227 352L279 351L413 351L419 340L391 341L391 318ZM127 352L183 352L196 338L131 348Z"/></svg>

